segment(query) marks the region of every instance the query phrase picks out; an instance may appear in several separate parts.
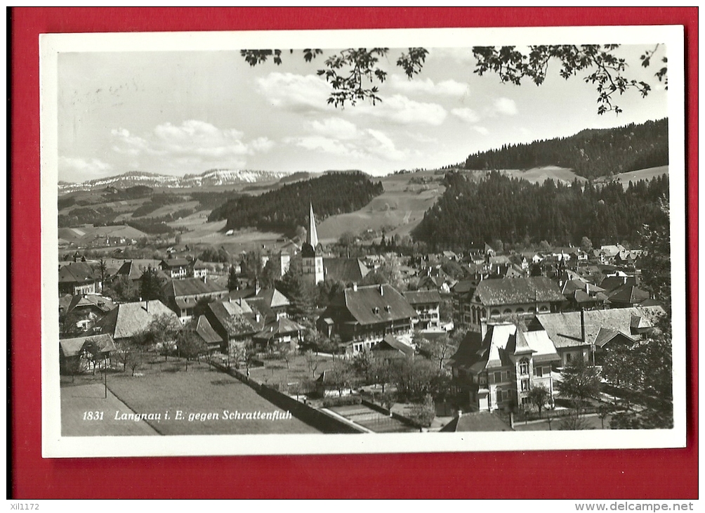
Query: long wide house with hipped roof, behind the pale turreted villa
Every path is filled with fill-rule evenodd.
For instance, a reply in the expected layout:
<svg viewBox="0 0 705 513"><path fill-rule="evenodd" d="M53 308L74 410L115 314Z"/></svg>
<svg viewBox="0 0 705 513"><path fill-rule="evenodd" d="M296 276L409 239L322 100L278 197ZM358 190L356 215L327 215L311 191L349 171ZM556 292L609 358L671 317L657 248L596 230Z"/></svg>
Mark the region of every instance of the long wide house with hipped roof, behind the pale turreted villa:
<svg viewBox="0 0 705 513"><path fill-rule="evenodd" d="M469 315L464 311L463 318L470 330L480 331L482 320L553 312L563 301L558 285L547 277L483 279L470 296Z"/></svg>

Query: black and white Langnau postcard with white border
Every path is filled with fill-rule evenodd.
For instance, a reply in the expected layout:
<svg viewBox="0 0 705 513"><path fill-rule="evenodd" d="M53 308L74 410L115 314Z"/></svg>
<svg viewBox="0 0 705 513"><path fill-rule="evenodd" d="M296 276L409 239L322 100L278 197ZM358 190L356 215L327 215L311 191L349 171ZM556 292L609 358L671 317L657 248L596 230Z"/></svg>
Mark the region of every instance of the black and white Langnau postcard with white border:
<svg viewBox="0 0 705 513"><path fill-rule="evenodd" d="M42 454L685 447L683 59L42 35Z"/></svg>

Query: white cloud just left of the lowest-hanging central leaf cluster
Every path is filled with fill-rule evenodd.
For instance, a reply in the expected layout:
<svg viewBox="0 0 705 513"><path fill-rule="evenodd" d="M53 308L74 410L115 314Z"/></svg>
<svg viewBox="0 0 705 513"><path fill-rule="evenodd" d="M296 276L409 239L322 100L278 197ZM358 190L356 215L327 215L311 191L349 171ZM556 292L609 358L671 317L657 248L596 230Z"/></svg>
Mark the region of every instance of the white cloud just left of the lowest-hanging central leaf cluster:
<svg viewBox="0 0 705 513"><path fill-rule="evenodd" d="M327 100L331 86L314 75L269 73L257 79L259 93L274 107L293 111L329 110Z"/></svg>

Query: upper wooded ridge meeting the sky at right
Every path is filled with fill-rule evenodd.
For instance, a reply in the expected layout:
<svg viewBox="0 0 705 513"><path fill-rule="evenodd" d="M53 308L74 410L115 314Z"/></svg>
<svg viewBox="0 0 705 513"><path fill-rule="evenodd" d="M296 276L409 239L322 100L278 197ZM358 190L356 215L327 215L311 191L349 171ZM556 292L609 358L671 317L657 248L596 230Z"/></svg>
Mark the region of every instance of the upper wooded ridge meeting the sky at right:
<svg viewBox="0 0 705 513"><path fill-rule="evenodd" d="M567 167L585 178L668 164L668 118L474 153L465 169Z"/></svg>

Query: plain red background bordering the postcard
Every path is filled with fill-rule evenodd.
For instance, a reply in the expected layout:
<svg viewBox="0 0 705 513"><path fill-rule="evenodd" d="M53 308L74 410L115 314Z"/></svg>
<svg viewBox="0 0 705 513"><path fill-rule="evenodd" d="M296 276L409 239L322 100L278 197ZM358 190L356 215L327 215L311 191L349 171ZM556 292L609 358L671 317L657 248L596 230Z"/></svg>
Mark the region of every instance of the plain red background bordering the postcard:
<svg viewBox="0 0 705 513"><path fill-rule="evenodd" d="M685 25L689 354L686 449L42 459L42 32ZM697 8L13 8L12 496L15 498L697 498Z"/></svg>

